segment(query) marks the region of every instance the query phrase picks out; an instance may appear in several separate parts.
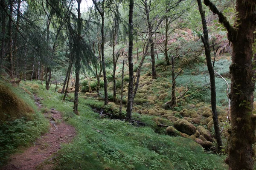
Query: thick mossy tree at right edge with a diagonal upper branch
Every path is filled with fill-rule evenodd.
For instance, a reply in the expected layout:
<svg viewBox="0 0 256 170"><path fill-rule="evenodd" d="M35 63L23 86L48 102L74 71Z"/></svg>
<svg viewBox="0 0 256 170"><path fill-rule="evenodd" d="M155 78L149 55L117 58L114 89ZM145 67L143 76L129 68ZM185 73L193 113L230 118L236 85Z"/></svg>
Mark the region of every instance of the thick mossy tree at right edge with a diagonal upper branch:
<svg viewBox="0 0 256 170"><path fill-rule="evenodd" d="M256 116L253 114L253 91L255 87L255 63L253 57L253 40L256 26L256 1L236 0L236 22L231 26L227 18L210 1L204 4L218 15L219 22L228 32L232 42L231 74L231 134L226 163L229 170L252 170L253 148L255 142Z"/></svg>

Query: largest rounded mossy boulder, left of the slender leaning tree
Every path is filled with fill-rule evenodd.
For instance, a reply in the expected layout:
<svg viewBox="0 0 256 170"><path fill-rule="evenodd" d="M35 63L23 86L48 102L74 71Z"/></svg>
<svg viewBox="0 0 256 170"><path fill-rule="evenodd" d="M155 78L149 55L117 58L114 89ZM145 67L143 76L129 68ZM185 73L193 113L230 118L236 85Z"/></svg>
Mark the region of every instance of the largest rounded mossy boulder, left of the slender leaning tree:
<svg viewBox="0 0 256 170"><path fill-rule="evenodd" d="M188 121L186 121L185 119L179 119L176 122L174 122L174 127L176 127L177 130L188 135L192 135L196 132L196 127Z"/></svg>

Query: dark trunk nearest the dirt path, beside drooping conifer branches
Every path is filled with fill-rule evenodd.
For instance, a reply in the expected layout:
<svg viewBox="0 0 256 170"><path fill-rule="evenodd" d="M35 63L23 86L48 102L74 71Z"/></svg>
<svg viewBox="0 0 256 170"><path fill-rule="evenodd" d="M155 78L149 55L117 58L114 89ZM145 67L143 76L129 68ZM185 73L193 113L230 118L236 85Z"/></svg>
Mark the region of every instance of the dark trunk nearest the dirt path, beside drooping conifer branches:
<svg viewBox="0 0 256 170"><path fill-rule="evenodd" d="M79 93L79 72L80 72L80 53L81 53L81 31L82 31L82 20L81 20L81 11L80 11L80 4L81 4L81 0L77 0L77 13L78 13L78 35L76 36L76 43L74 43L74 45L76 45L76 63L75 63L75 73L76 73L76 82L75 82L75 97L74 97L74 107L73 107L73 111L76 115L79 115L78 112L78 93Z"/></svg>

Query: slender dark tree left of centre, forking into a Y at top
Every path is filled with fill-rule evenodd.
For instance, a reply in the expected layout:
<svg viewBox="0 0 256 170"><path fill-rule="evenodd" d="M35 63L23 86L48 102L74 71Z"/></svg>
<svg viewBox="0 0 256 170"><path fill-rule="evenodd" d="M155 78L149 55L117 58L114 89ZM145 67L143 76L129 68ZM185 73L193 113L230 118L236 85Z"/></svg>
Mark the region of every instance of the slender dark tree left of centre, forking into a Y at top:
<svg viewBox="0 0 256 170"><path fill-rule="evenodd" d="M99 12L101 18L102 18L102 27L101 27L101 33L102 33L102 44L101 44L101 57L102 57L102 68L103 68L103 79L104 79L104 105L108 105L108 82L106 77L106 65L105 65L105 56L104 56L104 45L105 45L105 34L104 34L104 22L105 22L105 0L102 0L101 8L99 7L99 3L96 3L96 0L93 0L93 3Z"/></svg>

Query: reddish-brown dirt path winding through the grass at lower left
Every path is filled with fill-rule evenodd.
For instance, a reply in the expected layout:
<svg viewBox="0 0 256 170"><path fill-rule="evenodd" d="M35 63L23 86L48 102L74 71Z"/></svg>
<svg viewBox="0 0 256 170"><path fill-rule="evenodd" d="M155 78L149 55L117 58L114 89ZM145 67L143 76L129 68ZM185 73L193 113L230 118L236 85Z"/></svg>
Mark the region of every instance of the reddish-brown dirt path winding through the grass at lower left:
<svg viewBox="0 0 256 170"><path fill-rule="evenodd" d="M38 108L42 106L40 100L35 96ZM35 170L43 161L52 160L50 156L61 148L61 143L71 142L76 135L75 128L61 120L61 113L52 108L50 113L44 115L49 119L49 132L39 137L34 146L27 148L23 153L12 155L3 170ZM47 164L38 169L51 170L52 166L53 164Z"/></svg>

